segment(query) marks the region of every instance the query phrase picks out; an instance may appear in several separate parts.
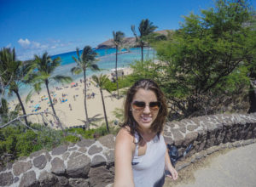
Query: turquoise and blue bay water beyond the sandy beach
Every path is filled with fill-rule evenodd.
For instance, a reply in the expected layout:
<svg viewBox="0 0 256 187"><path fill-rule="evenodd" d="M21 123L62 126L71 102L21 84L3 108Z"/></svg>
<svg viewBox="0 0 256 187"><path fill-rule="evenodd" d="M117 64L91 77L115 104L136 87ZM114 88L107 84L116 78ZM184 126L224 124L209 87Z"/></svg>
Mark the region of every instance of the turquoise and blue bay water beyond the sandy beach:
<svg viewBox="0 0 256 187"><path fill-rule="evenodd" d="M114 70L115 68L115 48L108 48L108 49L95 49L97 56L96 58L99 59L97 62L97 65L99 66L100 69L103 69L103 71L100 72L93 72L93 71L86 71L87 76L92 76L93 74L96 73L104 73L104 72L109 72ZM126 50L123 49L121 52L125 52ZM126 51L127 52L127 51ZM80 51L82 53L82 51ZM145 48L143 50L144 53L144 59L153 59L153 50L148 48ZM83 73L79 75L72 75L71 69L76 66L76 63L74 62L72 56L77 58L77 53L76 51L73 52L68 52L65 54L56 54L51 56L52 59L55 59L56 57L61 58L61 65L57 67L53 73L53 76L55 75L65 75L72 77L73 80L77 80L80 78L83 78ZM140 60L141 57L141 48L130 48L128 53L123 53L118 55L118 68L123 68L123 67L128 67L131 65L135 60ZM49 82L49 88L55 88L59 84L57 82ZM42 88L44 89L45 86L42 85ZM30 85L21 85L20 86L20 95L26 95L28 92L32 89ZM13 95L9 98L8 100L11 99L16 99L16 96Z"/></svg>

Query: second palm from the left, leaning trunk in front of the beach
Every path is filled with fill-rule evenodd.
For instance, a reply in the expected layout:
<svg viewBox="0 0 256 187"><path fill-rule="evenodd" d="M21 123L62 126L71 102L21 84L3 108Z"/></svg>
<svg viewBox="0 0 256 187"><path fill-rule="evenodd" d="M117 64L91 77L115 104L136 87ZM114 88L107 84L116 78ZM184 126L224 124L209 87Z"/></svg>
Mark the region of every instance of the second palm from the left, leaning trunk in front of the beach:
<svg viewBox="0 0 256 187"><path fill-rule="evenodd" d="M38 69L37 74L33 74L32 76L32 80L33 82L35 82L34 88L36 89L36 91L39 91L41 89L41 84L45 84L49 96L50 106L52 108L54 115L57 118L55 107L52 103L52 99L49 94L49 82L51 80L54 80L55 82L72 82L72 78L61 75L52 76L53 72L55 71L55 68L61 65L60 57L51 59L48 53L45 52L42 57L35 55L34 63L35 67Z"/></svg>

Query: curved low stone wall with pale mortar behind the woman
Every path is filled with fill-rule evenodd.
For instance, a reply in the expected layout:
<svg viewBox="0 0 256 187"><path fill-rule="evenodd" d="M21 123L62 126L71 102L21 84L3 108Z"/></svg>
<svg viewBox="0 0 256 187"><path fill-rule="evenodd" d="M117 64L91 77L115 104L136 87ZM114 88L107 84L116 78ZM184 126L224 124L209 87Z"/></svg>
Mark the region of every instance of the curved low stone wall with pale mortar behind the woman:
<svg viewBox="0 0 256 187"><path fill-rule="evenodd" d="M255 143L256 113L201 116L181 122L166 122L167 144L180 153L189 144L193 149L177 170L214 151ZM40 150L20 158L0 171L0 186L106 186L113 183L113 135L98 140L83 139L77 144Z"/></svg>

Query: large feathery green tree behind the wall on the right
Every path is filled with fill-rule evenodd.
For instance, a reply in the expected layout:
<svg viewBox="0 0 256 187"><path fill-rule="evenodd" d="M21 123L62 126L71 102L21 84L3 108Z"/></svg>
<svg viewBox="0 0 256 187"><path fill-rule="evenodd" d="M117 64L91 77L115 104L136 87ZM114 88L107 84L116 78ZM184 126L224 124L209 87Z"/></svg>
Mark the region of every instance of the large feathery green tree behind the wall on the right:
<svg viewBox="0 0 256 187"><path fill-rule="evenodd" d="M181 29L158 43L165 62L160 84L185 116L247 85L256 54L255 29L246 24L252 14L247 1L218 0L215 8L185 16Z"/></svg>

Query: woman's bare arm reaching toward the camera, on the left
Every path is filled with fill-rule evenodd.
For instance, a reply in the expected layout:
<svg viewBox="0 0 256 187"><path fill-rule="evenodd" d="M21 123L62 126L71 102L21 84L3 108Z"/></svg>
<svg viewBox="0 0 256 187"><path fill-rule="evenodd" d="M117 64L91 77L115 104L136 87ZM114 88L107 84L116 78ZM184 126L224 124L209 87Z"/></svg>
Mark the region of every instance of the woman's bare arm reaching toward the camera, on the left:
<svg viewBox="0 0 256 187"><path fill-rule="evenodd" d="M134 150L133 137L127 129L122 128L115 140L113 187L134 186L131 168Z"/></svg>

